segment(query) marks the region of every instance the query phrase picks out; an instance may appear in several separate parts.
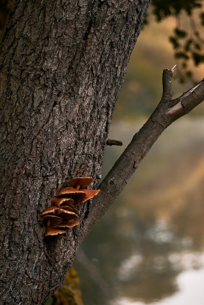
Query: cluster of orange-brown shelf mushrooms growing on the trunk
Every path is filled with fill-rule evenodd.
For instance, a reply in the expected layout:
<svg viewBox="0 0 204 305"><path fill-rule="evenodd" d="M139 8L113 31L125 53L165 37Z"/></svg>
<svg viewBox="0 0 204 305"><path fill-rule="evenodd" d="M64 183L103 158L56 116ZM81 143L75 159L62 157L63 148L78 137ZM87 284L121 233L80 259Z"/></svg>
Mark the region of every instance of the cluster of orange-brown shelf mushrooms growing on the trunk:
<svg viewBox="0 0 204 305"><path fill-rule="evenodd" d="M87 190L93 182L91 177L77 177L67 182L57 196L51 199L51 207L43 210L40 223L45 226L45 237L66 233L67 228L80 224L77 206L96 196L100 190Z"/></svg>

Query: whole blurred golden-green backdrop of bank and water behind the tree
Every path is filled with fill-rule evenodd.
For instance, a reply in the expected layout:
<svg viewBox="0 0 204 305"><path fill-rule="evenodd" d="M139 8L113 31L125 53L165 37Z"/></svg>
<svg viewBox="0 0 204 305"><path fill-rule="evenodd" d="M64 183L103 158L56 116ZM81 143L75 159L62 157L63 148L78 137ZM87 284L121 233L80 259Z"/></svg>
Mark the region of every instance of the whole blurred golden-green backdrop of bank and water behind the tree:
<svg viewBox="0 0 204 305"><path fill-rule="evenodd" d="M178 64L174 98L193 86L180 82L169 42L176 22L152 18L138 38L109 133L123 146L107 147L102 177L159 103L163 69ZM203 65L189 67L204 77ZM167 128L82 243L74 266L85 305L204 304L203 185L201 104Z"/></svg>

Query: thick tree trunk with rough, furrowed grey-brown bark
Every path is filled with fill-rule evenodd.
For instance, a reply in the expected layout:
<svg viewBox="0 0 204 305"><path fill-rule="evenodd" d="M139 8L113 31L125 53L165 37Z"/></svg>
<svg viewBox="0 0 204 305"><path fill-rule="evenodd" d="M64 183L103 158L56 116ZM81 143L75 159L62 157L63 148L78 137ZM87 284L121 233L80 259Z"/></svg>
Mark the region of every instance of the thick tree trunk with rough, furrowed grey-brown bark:
<svg viewBox="0 0 204 305"><path fill-rule="evenodd" d="M43 239L41 211L74 176L101 177L115 101L149 0L19 0L0 47L1 304L43 304L89 214Z"/></svg>

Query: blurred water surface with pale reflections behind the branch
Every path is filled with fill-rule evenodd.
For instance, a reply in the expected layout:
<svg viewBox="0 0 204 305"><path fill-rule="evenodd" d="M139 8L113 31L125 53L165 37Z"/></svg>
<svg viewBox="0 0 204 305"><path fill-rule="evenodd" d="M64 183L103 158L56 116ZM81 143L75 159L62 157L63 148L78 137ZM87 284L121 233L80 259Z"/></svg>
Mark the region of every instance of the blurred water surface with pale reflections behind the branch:
<svg viewBox="0 0 204 305"><path fill-rule="evenodd" d="M143 125L115 123L103 176ZM83 242L85 305L204 304L204 120L170 126Z"/></svg>

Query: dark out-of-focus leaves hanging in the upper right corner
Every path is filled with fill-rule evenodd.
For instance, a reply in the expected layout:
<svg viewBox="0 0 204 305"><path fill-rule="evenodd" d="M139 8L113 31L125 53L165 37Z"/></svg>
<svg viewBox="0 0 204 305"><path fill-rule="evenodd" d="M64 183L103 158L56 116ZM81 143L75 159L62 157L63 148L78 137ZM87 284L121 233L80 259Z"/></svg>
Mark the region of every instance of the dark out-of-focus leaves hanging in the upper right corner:
<svg viewBox="0 0 204 305"><path fill-rule="evenodd" d="M152 0L151 13L158 22L167 17L175 17L177 26L169 40L174 56L180 63L180 81L192 80L189 62L195 66L204 63L204 26L203 0ZM147 20L148 22L148 20ZM188 24L188 26L186 26Z"/></svg>

